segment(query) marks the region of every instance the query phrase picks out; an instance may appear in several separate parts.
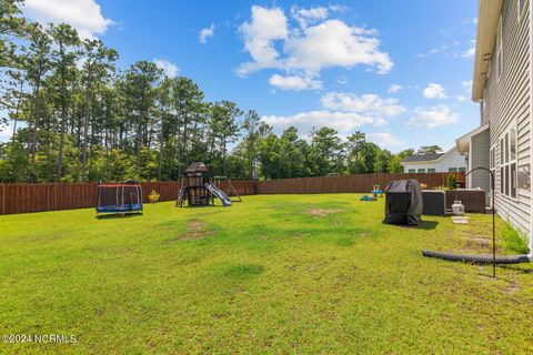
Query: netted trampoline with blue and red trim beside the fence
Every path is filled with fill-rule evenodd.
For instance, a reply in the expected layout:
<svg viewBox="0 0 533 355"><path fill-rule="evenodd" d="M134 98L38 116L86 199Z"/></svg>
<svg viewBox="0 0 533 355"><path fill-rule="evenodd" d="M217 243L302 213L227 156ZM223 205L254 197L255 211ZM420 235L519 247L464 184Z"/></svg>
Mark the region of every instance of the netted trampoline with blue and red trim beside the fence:
<svg viewBox="0 0 533 355"><path fill-rule="evenodd" d="M98 185L97 199L97 217L103 213L142 214L142 187L139 183Z"/></svg>

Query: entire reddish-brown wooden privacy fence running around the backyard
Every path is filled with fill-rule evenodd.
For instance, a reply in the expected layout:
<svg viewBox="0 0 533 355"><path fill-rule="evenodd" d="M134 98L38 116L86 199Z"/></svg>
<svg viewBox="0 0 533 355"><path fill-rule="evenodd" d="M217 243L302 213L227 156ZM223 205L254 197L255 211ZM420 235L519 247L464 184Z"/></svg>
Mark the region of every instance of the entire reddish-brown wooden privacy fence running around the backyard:
<svg viewBox="0 0 533 355"><path fill-rule="evenodd" d="M425 183L428 189L442 186L447 176L455 174L463 181L462 173L428 174L365 174L348 176L301 178L270 181L232 180L240 195L292 194L292 193L370 193L373 185L382 189L393 181L415 179ZM228 191L227 182L221 187ZM160 194L161 201L172 201L178 196L180 182L143 182L143 200L152 190ZM0 214L73 210L93 207L97 203L97 183L46 183L46 184L0 184Z"/></svg>

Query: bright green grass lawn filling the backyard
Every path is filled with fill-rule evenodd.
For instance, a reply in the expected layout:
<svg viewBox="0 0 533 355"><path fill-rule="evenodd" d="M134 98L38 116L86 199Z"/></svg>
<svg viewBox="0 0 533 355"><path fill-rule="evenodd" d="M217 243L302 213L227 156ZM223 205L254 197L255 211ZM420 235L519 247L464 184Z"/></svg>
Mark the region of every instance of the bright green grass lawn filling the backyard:
<svg viewBox="0 0 533 355"><path fill-rule="evenodd" d="M0 335L77 338L0 353L533 352L531 265L494 281L491 266L421 255L490 253L490 215L390 226L382 200L359 196L0 216Z"/></svg>

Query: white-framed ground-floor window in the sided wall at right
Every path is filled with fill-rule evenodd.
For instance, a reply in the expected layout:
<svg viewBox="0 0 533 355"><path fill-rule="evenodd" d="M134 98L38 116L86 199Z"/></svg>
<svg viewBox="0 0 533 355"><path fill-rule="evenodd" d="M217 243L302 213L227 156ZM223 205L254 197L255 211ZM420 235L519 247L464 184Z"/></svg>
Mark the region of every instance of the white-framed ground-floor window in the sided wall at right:
<svg viewBox="0 0 533 355"><path fill-rule="evenodd" d="M516 128L511 128L500 141L500 192L516 199Z"/></svg>

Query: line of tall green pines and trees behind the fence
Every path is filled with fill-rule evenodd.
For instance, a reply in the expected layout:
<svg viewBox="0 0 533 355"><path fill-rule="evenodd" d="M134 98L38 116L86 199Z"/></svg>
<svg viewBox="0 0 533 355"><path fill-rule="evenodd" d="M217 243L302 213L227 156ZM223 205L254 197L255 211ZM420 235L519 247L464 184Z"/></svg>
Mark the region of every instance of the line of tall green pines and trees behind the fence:
<svg viewBox="0 0 533 355"><path fill-rule="evenodd" d="M404 156L441 150L393 154L331 128L276 135L254 110L207 102L190 78L145 60L120 69L117 50L30 22L21 3L0 2L0 125L11 130L0 182L178 180L194 161L237 179L402 172Z"/></svg>

